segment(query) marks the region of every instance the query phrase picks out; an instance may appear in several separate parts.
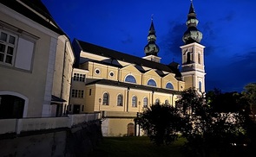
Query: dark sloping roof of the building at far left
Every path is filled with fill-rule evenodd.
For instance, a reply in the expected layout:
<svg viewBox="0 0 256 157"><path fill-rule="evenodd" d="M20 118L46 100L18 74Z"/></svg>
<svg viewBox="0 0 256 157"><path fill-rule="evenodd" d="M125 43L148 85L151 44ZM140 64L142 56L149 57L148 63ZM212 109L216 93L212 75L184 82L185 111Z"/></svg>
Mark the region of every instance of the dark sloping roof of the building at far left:
<svg viewBox="0 0 256 157"><path fill-rule="evenodd" d="M0 3L3 3L6 7L15 10L17 13L26 16L27 18L30 18L30 20L37 22L41 25L43 25L46 28L49 28L50 30L56 32L59 35L66 35L62 28L60 28L52 16L49 14L49 10L46 9L46 7L43 5L41 0L19 0L20 2L16 0L3 0ZM25 6L27 5L27 6ZM30 9L29 9L30 8ZM36 14L35 10L38 14ZM43 17L45 19L43 19ZM52 22L52 23L50 23Z"/></svg>

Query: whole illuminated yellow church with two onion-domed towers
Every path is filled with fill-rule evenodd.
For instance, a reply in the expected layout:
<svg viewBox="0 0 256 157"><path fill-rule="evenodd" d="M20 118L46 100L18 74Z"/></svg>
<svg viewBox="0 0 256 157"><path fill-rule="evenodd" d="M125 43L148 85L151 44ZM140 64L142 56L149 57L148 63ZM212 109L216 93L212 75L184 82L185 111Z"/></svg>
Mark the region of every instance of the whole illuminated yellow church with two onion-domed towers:
<svg viewBox="0 0 256 157"><path fill-rule="evenodd" d="M142 58L75 39L68 111L101 112L104 136L139 135L134 118L150 105L175 105L181 91L190 87L204 92L204 46L198 22L191 3L181 46L181 71L174 61L161 63L153 20Z"/></svg>

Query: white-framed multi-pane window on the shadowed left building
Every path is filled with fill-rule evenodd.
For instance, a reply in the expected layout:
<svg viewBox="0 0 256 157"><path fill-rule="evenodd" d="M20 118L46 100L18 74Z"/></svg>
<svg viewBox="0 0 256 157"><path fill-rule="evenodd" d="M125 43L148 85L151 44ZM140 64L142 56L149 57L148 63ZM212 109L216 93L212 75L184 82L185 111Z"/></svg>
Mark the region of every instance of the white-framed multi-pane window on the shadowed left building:
<svg viewBox="0 0 256 157"><path fill-rule="evenodd" d="M14 65L16 35L0 30L0 63Z"/></svg>

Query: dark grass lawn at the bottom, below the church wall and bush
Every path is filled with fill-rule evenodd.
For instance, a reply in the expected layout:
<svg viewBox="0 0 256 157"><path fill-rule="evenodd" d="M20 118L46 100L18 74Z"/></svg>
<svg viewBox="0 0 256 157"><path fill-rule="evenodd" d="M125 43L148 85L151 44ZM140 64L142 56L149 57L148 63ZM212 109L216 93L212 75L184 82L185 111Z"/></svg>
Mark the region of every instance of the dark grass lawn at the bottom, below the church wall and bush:
<svg viewBox="0 0 256 157"><path fill-rule="evenodd" d="M155 146L148 137L104 137L102 144L89 154L92 157L136 157L136 156L183 156L181 146L185 139L179 139L169 146Z"/></svg>

